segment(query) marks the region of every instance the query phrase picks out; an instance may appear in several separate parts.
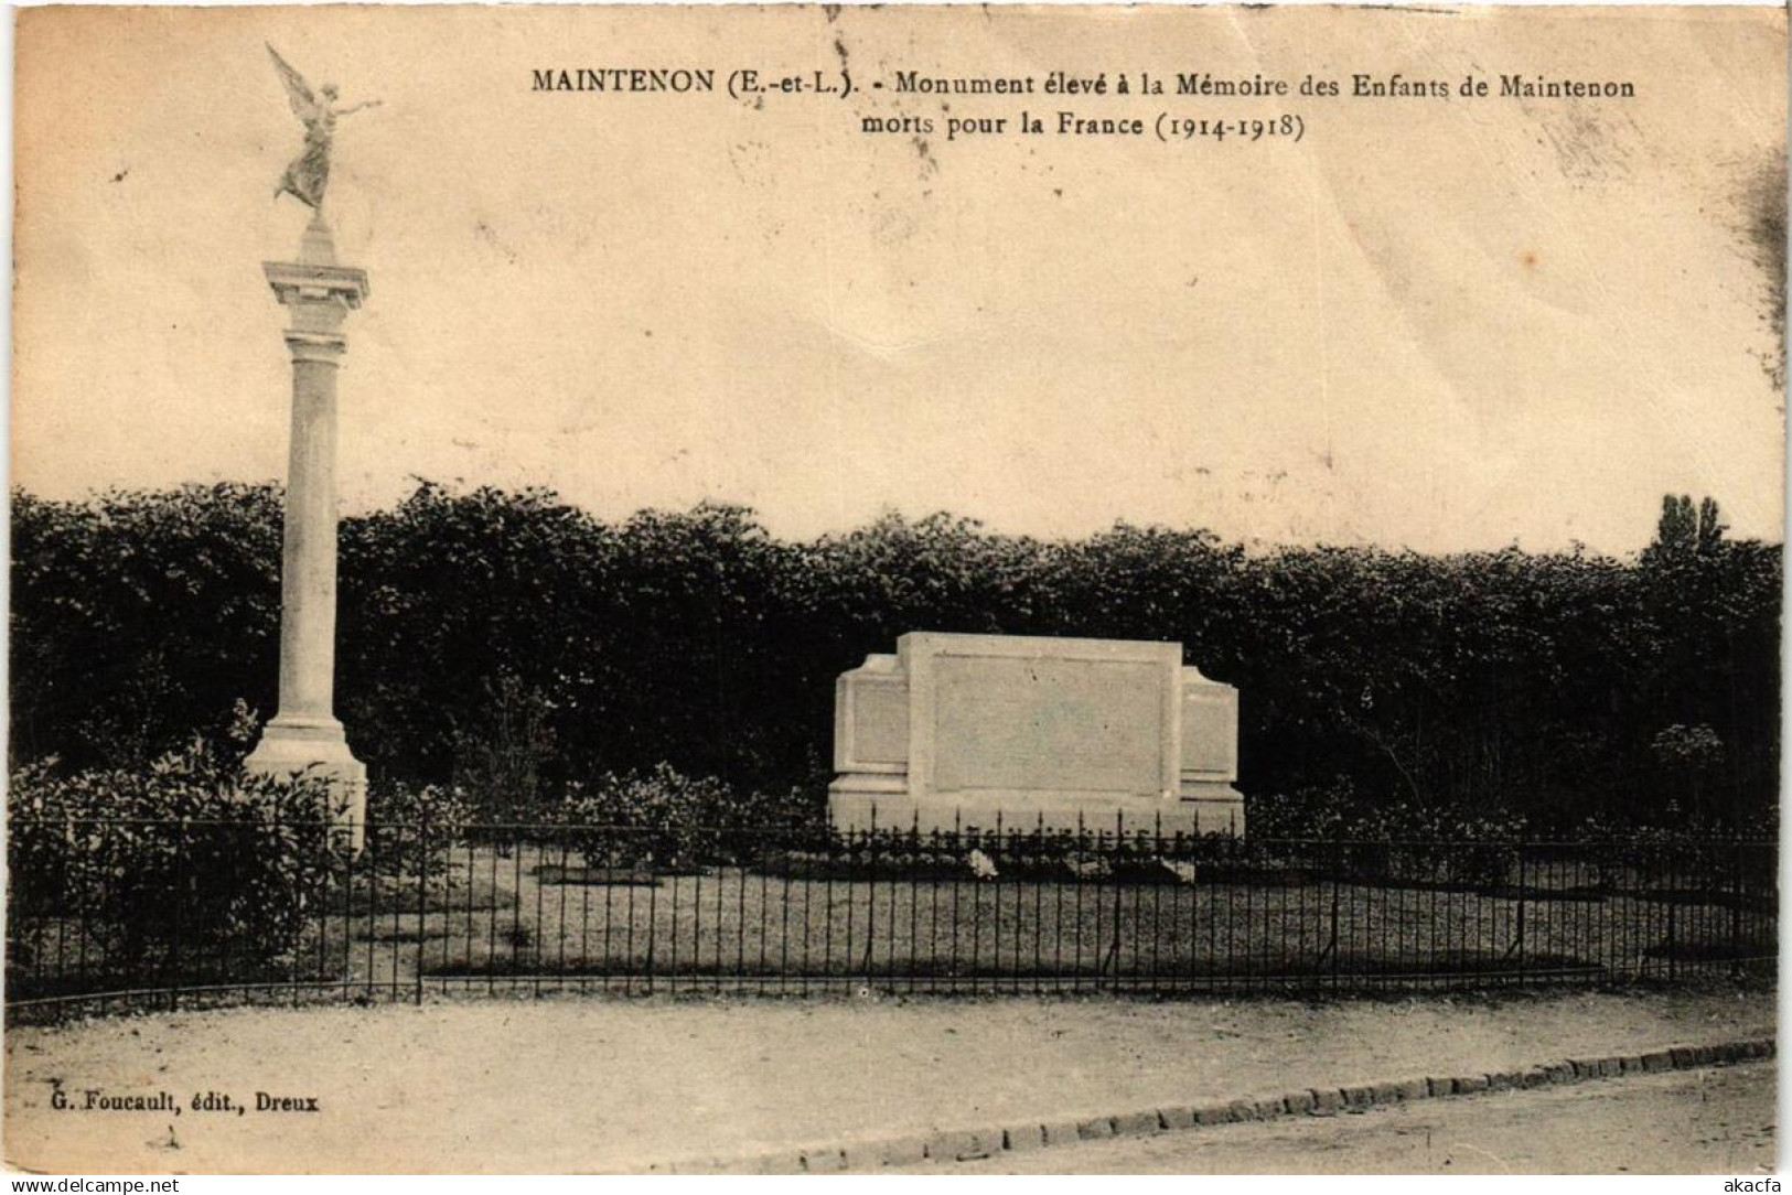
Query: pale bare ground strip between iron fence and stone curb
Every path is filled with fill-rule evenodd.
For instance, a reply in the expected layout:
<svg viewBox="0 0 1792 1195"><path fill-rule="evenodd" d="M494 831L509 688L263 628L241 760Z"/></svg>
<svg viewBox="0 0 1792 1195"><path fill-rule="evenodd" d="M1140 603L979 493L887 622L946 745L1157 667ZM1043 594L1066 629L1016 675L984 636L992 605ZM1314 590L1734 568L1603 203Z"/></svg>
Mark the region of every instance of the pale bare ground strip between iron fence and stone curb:
<svg viewBox="0 0 1792 1195"><path fill-rule="evenodd" d="M228 1009L11 1028L5 1148L59 1172L633 1170L1772 1028L1760 989ZM52 1111L54 1088L165 1089L183 1113ZM195 1113L204 1091L321 1111Z"/></svg>

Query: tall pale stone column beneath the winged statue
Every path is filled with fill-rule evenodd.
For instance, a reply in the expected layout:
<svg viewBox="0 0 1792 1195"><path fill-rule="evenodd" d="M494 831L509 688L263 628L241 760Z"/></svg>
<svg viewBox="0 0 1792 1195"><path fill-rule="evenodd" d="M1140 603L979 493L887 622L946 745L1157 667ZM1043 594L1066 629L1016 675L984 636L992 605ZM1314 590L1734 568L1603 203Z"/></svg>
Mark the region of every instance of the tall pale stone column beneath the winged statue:
<svg viewBox="0 0 1792 1195"><path fill-rule="evenodd" d="M306 769L326 776L360 849L367 769L349 754L335 718L335 382L348 351L342 321L367 297L367 274L337 265L323 217L305 229L297 262L263 262L262 269L290 317L292 444L280 566L280 711L244 765L272 776Z"/></svg>

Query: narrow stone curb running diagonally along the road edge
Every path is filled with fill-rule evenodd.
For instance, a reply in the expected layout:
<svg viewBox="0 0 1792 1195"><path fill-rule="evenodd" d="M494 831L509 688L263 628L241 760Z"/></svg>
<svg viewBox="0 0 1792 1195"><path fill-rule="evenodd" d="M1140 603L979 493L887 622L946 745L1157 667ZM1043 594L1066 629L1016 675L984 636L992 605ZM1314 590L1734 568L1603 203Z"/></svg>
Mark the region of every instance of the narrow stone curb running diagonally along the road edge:
<svg viewBox="0 0 1792 1195"><path fill-rule="evenodd" d="M1312 1088L1285 1095L1174 1104L1082 1120L1016 1122L987 1129L953 1129L876 1141L853 1141L848 1145L788 1148L751 1157L688 1157L652 1165L647 1168L647 1174L876 1172L891 1166L912 1166L923 1161L950 1163L995 1157L1004 1152L1018 1154L1021 1150L1070 1145L1073 1141L1152 1136L1158 1132L1199 1129L1202 1125L1229 1125L1283 1116L1339 1116L1340 1113L1362 1113L1380 1104L1439 1100L1487 1091L1618 1079L1624 1075L1727 1066L1770 1057L1774 1057L1772 1037L1745 1037L1704 1046L1676 1045L1643 1053L1552 1059L1536 1066L1518 1066L1480 1075L1425 1075L1339 1088Z"/></svg>

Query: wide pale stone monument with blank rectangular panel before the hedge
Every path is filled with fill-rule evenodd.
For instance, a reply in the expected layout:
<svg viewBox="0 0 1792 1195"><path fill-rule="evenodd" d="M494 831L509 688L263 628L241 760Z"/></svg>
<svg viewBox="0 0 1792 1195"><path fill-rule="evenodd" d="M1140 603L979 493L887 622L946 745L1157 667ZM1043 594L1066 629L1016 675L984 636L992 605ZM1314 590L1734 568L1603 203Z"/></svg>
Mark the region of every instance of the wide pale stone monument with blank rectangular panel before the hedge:
<svg viewBox="0 0 1792 1195"><path fill-rule="evenodd" d="M833 690L840 830L1244 833L1238 690L1179 643L918 631Z"/></svg>

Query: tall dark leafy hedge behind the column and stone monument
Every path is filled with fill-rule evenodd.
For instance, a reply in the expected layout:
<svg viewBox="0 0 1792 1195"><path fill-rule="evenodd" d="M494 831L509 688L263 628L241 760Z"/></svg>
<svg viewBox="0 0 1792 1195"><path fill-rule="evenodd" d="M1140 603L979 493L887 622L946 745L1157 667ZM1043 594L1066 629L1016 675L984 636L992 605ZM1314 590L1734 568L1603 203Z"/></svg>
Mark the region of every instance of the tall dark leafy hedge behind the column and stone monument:
<svg viewBox="0 0 1792 1195"><path fill-rule="evenodd" d="M13 552L14 765L129 765L237 699L272 713L278 489L14 493ZM815 787L833 677L905 631L1177 640L1242 690L1247 795L1733 822L1776 803L1779 555L1254 554L944 514L792 543L740 507L604 523L421 484L342 525L337 706L376 774L523 803L658 763Z"/></svg>

